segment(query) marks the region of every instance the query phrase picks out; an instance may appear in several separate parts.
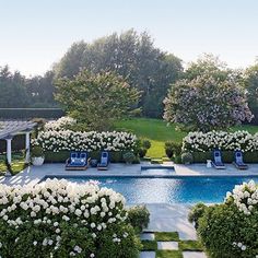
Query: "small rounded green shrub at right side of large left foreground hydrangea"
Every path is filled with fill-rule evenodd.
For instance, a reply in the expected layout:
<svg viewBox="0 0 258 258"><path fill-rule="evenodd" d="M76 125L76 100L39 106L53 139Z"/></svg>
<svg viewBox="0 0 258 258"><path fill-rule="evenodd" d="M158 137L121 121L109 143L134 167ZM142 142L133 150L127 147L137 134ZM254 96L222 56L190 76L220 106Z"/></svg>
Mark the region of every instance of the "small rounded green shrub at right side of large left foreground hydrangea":
<svg viewBox="0 0 258 258"><path fill-rule="evenodd" d="M128 221L140 233L150 222L150 212L145 206L134 206L128 210Z"/></svg>

